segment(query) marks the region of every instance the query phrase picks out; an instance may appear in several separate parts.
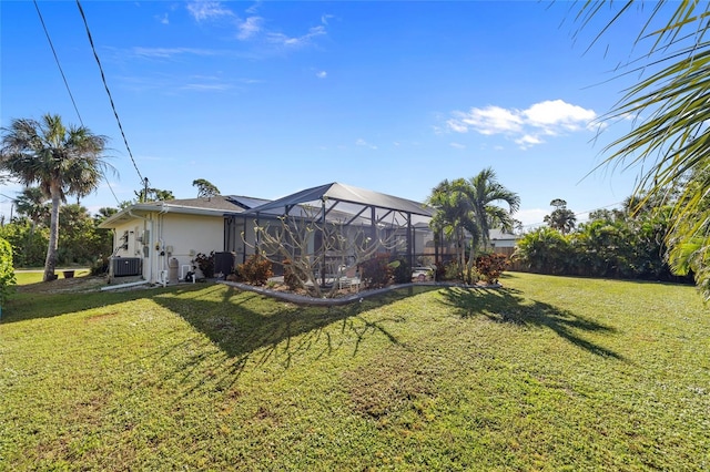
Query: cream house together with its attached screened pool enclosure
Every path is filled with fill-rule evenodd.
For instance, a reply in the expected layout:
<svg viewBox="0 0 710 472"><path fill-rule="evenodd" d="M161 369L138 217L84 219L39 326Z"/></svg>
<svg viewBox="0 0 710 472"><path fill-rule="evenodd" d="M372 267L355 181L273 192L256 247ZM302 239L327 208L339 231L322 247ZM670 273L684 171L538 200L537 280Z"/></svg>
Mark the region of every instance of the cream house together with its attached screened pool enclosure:
<svg viewBox="0 0 710 472"><path fill-rule="evenodd" d="M100 226L114 230L110 277L142 276L151 284L182 279L191 270L196 255L212 252L221 256L234 255L232 264L242 263L260 244L255 238L255 225L263 226L265 220L281 222L278 218L283 215L305 218L311 213L308 208L316 208L323 218L351 228L392 228L402 240L397 253L409 257L413 266L415 258L429 249L432 208L392 195L332 183L274 202L214 196L132 205ZM317 235L314 235L308 250L320 250L318 247Z"/></svg>

